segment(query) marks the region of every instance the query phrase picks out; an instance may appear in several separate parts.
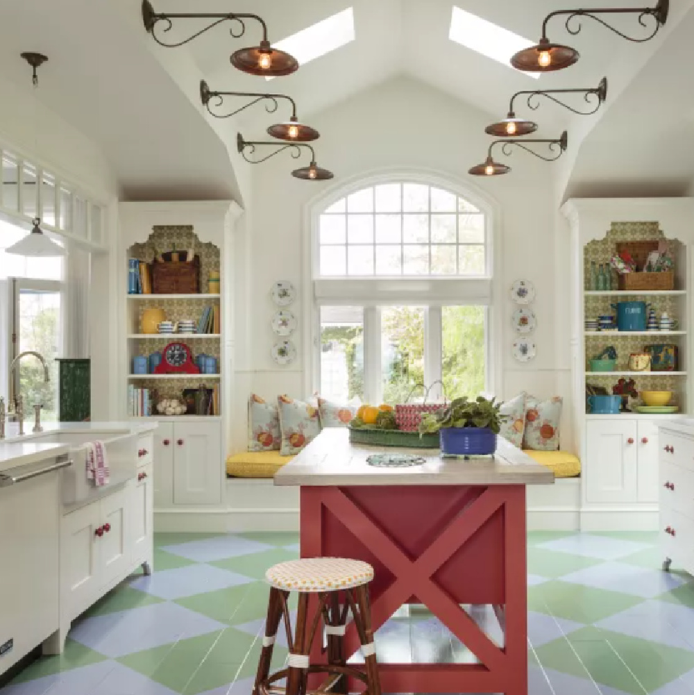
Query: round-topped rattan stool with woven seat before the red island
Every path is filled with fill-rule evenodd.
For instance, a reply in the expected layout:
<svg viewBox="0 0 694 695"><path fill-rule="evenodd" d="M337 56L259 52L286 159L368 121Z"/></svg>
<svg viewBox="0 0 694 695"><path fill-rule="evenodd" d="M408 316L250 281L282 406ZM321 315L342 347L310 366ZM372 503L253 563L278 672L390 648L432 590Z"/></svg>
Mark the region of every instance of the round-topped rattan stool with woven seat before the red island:
<svg viewBox="0 0 694 695"><path fill-rule="evenodd" d="M313 691L315 693L324 694L338 684L338 689L346 693L347 678L354 677L366 684L365 694L381 695L367 586L374 578L372 566L359 560L315 557L282 562L270 568L265 578L272 588L254 695L306 695L310 673L327 673L328 676ZM290 591L297 591L299 594L293 637L287 607ZM311 619L308 615L308 600L312 594L317 596L317 608ZM340 600L341 596L343 600ZM348 610L352 612L354 626L361 641L365 672L348 667L345 660L342 638L347 626ZM288 668L270 675L272 648L281 618L284 618L289 645ZM311 664L308 655L321 618L327 635L328 663ZM287 679L285 688L273 685L282 678Z"/></svg>

